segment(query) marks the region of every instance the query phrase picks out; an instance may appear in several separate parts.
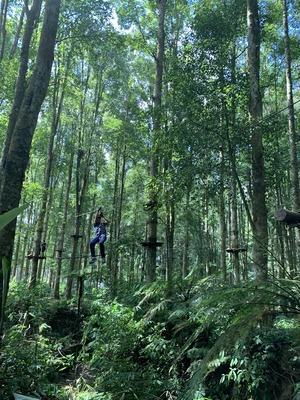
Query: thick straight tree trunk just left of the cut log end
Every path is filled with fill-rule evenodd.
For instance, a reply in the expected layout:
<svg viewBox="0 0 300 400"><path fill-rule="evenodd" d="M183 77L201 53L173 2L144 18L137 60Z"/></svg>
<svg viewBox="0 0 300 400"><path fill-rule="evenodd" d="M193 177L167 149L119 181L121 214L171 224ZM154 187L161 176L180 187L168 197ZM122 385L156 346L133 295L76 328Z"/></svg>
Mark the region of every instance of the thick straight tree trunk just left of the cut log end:
<svg viewBox="0 0 300 400"><path fill-rule="evenodd" d="M260 26L257 0L247 0L248 68L250 80L249 115L252 145L253 261L258 281L268 274L268 229L262 145L262 98L260 92Z"/></svg>

